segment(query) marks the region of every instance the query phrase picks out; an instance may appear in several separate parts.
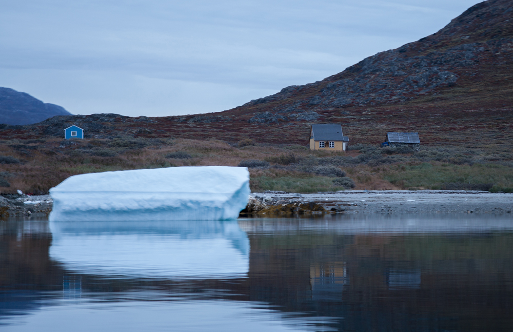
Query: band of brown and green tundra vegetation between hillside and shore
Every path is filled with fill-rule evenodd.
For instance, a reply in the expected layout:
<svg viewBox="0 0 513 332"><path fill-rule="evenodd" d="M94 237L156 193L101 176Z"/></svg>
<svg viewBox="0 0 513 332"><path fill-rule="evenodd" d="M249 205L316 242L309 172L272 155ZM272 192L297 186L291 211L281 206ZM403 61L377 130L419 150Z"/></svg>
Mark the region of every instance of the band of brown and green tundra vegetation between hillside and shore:
<svg viewBox="0 0 513 332"><path fill-rule="evenodd" d="M252 191L467 189L513 191L513 152L422 146L311 151L301 145L132 138L0 141L0 190L44 194L75 174L172 166L245 166Z"/></svg>

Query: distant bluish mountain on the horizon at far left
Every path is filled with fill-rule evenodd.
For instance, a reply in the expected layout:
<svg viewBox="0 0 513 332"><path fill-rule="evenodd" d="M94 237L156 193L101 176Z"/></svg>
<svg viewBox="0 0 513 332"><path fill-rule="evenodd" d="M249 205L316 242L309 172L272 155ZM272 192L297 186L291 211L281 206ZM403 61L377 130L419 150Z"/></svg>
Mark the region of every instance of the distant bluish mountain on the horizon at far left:
<svg viewBox="0 0 513 332"><path fill-rule="evenodd" d="M63 107L45 104L28 93L0 87L0 123L28 125L55 115L71 115Z"/></svg>

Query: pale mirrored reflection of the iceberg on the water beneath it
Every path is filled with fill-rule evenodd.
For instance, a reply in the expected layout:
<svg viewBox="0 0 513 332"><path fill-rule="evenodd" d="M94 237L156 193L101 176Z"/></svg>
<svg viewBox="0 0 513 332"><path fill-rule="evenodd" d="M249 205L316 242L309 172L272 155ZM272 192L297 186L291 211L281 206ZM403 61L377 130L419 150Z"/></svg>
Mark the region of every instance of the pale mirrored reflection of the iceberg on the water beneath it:
<svg viewBox="0 0 513 332"><path fill-rule="evenodd" d="M50 258L85 274L240 278L249 240L236 221L51 222Z"/></svg>

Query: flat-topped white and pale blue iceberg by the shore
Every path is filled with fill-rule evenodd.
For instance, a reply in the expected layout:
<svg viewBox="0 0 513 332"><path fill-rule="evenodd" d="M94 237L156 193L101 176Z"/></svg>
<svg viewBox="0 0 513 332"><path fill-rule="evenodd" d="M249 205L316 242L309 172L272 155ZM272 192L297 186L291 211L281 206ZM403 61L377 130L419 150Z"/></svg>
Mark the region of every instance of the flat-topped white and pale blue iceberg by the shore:
<svg viewBox="0 0 513 332"><path fill-rule="evenodd" d="M245 167L74 175L50 189L50 221L233 220L249 198Z"/></svg>

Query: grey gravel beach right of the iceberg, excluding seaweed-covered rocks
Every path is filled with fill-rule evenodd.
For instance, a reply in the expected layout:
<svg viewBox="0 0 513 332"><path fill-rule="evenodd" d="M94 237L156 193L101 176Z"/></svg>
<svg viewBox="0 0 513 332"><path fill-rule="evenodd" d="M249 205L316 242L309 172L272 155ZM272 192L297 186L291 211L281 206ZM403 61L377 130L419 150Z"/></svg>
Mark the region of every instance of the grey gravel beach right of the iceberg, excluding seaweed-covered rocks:
<svg viewBox="0 0 513 332"><path fill-rule="evenodd" d="M298 194L277 191L252 196L267 205L315 202L343 213L511 213L513 194L467 190L383 190ZM512 214L513 216L513 214Z"/></svg>

